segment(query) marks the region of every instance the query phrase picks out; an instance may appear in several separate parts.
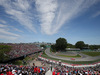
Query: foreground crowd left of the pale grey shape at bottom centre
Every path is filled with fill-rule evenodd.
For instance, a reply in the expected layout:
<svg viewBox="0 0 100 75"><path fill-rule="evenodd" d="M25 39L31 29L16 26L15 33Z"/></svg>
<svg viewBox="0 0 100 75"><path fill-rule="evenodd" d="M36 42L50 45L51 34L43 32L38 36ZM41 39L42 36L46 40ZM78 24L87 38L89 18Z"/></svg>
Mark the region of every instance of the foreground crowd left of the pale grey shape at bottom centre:
<svg viewBox="0 0 100 75"><path fill-rule="evenodd" d="M0 65L0 75L45 75L47 67Z"/></svg>

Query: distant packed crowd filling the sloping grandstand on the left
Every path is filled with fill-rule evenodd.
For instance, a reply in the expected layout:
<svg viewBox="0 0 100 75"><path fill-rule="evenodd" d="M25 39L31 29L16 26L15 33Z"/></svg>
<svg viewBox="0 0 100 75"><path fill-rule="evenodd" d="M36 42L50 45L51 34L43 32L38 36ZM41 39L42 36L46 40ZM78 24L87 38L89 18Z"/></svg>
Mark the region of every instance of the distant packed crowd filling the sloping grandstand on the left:
<svg viewBox="0 0 100 75"><path fill-rule="evenodd" d="M21 56L25 56L28 54L32 54L35 52L41 51L41 49L35 44L0 44L0 45L8 45L11 46L11 51L7 53L10 58L18 58Z"/></svg>

